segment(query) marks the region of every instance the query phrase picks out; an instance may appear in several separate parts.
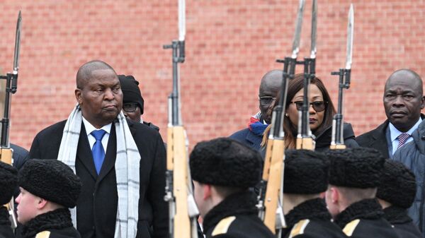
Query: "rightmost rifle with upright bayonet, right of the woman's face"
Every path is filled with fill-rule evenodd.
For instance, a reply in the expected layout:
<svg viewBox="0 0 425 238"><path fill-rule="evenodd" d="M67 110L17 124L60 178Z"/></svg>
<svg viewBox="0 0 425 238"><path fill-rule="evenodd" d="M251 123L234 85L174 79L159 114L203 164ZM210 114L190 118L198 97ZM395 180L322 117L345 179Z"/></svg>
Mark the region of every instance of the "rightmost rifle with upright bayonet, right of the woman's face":
<svg viewBox="0 0 425 238"><path fill-rule="evenodd" d="M351 80L351 63L353 56L353 33L354 33L354 9L353 4L350 5L348 11L348 27L347 27L347 54L346 54L346 67L345 69L339 69L339 71L331 72L331 75L339 76L339 92L338 92L338 110L334 115L332 121L332 140L330 148L331 150L345 149L344 144L344 116L343 116L343 105L344 105L344 88L350 88Z"/></svg>

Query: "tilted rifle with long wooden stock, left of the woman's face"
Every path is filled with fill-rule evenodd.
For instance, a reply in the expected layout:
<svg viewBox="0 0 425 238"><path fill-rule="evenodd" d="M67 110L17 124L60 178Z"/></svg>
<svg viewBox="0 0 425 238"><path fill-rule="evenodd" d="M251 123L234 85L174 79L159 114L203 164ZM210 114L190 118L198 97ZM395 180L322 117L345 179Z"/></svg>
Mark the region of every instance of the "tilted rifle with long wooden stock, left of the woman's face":
<svg viewBox="0 0 425 238"><path fill-rule="evenodd" d="M300 36L302 27L302 13L304 12L305 0L300 0L295 23L295 36L293 40L293 51L290 57L278 59L283 63L283 78L280 89L278 105L273 109L271 120L271 133L266 145L266 157L264 159L263 177L259 191L259 218L263 220L268 229L281 236L282 228L285 227L283 217L283 172L285 160L285 133L283 131L283 112L285 111L286 95L288 94L288 80L295 75L297 54L300 50Z"/></svg>

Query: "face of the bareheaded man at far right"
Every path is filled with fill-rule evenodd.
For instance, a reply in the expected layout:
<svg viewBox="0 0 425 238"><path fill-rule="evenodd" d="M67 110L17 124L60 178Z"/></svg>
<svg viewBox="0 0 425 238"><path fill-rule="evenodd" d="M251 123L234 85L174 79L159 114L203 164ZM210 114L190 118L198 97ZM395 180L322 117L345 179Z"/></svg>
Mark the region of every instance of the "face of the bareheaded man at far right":
<svg viewBox="0 0 425 238"><path fill-rule="evenodd" d="M409 75L392 76L385 85L385 114L399 131L409 131L421 117L424 97L420 92L420 83Z"/></svg>

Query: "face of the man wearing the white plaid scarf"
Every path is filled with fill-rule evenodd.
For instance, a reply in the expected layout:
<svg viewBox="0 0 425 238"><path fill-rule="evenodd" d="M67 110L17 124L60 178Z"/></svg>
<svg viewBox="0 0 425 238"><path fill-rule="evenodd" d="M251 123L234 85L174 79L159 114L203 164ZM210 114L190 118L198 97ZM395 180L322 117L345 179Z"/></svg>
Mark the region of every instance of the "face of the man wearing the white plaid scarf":
<svg viewBox="0 0 425 238"><path fill-rule="evenodd" d="M123 105L120 81L111 69L92 71L82 88L75 90L75 96L84 118L96 128L110 124Z"/></svg>

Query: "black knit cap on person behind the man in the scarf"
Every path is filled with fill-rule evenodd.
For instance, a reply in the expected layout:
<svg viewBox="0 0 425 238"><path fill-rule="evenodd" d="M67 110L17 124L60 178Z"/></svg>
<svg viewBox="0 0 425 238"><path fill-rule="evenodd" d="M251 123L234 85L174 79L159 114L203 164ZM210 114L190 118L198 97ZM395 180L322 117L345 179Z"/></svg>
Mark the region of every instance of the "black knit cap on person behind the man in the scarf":
<svg viewBox="0 0 425 238"><path fill-rule="evenodd" d="M143 100L142 93L140 93L139 82L131 75L119 75L118 78L123 91L123 103L136 102L140 107L140 114L143 114L145 100Z"/></svg>

